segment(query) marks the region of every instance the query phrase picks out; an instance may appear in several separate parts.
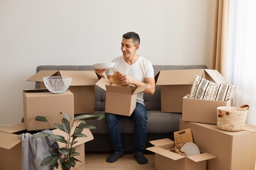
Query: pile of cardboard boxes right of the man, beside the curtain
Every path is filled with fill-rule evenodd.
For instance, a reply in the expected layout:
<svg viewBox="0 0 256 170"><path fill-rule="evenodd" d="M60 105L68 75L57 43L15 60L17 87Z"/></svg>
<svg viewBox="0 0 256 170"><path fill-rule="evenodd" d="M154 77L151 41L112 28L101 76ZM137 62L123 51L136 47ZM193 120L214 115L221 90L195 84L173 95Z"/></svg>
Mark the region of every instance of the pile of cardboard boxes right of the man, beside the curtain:
<svg viewBox="0 0 256 170"><path fill-rule="evenodd" d="M155 169L254 170L256 127L246 124L245 128L238 132L218 129L217 107L231 106L231 101L190 99L195 75L214 83L227 83L218 71L209 69L160 71L155 79L156 84L161 85L162 112L182 113L180 130L190 128L193 143L207 153L196 155L197 159L178 158L180 155L166 151L174 146L173 141L151 141L155 147L147 149L156 153ZM213 155L216 158L212 159Z"/></svg>

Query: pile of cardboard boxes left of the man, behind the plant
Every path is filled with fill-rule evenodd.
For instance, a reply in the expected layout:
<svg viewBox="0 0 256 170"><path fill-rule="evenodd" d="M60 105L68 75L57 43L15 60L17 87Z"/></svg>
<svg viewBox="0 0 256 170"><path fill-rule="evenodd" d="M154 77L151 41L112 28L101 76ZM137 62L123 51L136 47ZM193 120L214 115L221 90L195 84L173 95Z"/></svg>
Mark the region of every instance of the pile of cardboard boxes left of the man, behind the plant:
<svg viewBox="0 0 256 170"><path fill-rule="evenodd" d="M49 76L72 77L72 82L64 93L53 94L45 89L43 84L43 77ZM63 115L60 112L69 115L72 120L74 114L94 113L94 86L98 80L94 71L39 71L30 77L28 81L41 82L41 89L23 91L24 123L0 128L0 151L3 153L0 162L4 162L0 164L0 169L21 169L21 139L17 134L45 130L54 128L54 124L62 124ZM45 122L36 121L37 115L46 117L50 127ZM54 135L67 136L59 129L52 132ZM76 167L85 163L84 143L93 139L89 129L84 129L82 133L87 137L77 138L78 142L74 144L76 152L80 153L76 159L81 161L76 162ZM59 143L59 146L64 147L63 143Z"/></svg>

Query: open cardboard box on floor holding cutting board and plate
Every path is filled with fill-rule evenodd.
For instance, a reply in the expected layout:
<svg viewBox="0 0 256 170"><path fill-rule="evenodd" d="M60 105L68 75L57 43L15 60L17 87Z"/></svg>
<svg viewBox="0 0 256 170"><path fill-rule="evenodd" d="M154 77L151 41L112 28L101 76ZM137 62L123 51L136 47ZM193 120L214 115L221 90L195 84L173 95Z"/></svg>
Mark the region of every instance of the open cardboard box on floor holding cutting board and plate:
<svg viewBox="0 0 256 170"><path fill-rule="evenodd" d="M156 170L206 170L207 160L215 156L200 150L200 155L184 157L174 152L168 151L174 147L174 141L171 139L160 139L150 141L153 147L147 148L155 152Z"/></svg>

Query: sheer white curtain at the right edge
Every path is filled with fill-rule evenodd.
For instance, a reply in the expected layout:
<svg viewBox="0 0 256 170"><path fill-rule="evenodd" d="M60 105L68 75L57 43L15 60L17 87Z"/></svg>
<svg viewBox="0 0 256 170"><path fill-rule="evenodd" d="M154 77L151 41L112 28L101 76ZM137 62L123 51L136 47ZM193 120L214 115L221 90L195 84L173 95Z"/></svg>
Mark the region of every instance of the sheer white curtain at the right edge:
<svg viewBox="0 0 256 170"><path fill-rule="evenodd" d="M256 126L256 0L230 1L226 79L238 86L233 106L248 104Z"/></svg>

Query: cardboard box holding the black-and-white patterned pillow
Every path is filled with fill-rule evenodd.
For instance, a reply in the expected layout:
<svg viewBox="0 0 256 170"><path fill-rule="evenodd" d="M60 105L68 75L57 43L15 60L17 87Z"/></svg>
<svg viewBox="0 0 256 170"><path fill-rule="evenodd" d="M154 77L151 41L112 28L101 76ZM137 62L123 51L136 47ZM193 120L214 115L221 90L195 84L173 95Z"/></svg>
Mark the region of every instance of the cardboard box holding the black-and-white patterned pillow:
<svg viewBox="0 0 256 170"><path fill-rule="evenodd" d="M182 120L206 124L217 124L217 107L231 106L228 101L190 99L189 94L183 97Z"/></svg>

